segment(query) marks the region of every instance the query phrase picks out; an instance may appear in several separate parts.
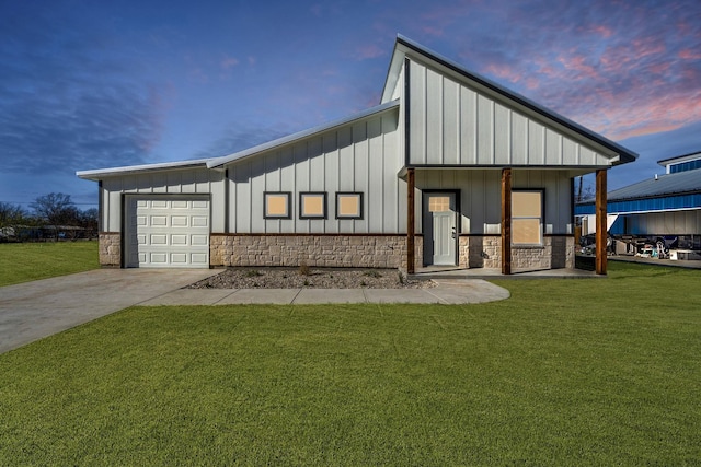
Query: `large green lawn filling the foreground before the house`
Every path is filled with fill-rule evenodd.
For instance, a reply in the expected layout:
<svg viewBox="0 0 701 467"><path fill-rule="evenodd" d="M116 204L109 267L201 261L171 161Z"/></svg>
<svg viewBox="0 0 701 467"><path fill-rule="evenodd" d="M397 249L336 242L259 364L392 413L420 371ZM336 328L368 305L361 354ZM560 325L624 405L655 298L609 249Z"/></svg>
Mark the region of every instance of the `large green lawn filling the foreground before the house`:
<svg viewBox="0 0 701 467"><path fill-rule="evenodd" d="M699 465L700 279L128 308L0 355L0 465Z"/></svg>

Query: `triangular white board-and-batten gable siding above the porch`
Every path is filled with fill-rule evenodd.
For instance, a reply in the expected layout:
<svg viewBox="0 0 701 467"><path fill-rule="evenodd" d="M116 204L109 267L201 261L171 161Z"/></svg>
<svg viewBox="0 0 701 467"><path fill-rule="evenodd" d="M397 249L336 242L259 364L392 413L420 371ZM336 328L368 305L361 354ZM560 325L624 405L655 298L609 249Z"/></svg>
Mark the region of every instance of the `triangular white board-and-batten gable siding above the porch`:
<svg viewBox="0 0 701 467"><path fill-rule="evenodd" d="M449 70L410 61L410 163L608 167L616 157Z"/></svg>

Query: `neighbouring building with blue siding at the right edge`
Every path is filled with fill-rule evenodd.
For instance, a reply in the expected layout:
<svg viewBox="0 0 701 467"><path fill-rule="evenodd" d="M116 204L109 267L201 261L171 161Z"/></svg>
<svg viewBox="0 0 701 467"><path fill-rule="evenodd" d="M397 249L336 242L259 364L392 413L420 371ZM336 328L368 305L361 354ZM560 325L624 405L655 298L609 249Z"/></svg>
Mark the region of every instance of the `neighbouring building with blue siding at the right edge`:
<svg viewBox="0 0 701 467"><path fill-rule="evenodd" d="M680 249L701 250L701 152L657 162L665 174L608 194L611 235L665 238ZM593 201L576 206L584 233L595 219Z"/></svg>

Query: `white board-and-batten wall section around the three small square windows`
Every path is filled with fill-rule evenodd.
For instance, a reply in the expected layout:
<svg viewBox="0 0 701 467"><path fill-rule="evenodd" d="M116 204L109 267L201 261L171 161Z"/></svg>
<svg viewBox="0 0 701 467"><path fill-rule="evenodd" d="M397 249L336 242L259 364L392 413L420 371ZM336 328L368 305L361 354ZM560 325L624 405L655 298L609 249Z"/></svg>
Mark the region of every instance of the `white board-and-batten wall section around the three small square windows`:
<svg viewBox="0 0 701 467"><path fill-rule="evenodd" d="M227 165L228 232L266 234L406 232L406 183L391 108ZM291 194L290 219L265 219L266 191ZM299 219L300 192L325 192L325 219ZM336 192L363 194L363 219L336 219Z"/></svg>

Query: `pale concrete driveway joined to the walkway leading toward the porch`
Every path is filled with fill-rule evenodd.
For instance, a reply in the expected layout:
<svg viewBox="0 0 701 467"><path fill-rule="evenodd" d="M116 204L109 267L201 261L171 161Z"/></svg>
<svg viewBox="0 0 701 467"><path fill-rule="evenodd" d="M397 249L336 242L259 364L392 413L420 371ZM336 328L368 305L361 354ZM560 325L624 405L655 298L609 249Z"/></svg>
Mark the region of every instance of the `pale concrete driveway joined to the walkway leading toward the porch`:
<svg viewBox="0 0 701 467"><path fill-rule="evenodd" d="M483 280L432 289L182 289L219 269L99 269L0 288L0 353L134 305L482 303L508 299Z"/></svg>

